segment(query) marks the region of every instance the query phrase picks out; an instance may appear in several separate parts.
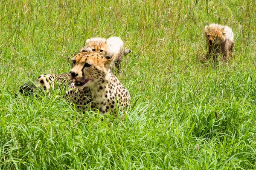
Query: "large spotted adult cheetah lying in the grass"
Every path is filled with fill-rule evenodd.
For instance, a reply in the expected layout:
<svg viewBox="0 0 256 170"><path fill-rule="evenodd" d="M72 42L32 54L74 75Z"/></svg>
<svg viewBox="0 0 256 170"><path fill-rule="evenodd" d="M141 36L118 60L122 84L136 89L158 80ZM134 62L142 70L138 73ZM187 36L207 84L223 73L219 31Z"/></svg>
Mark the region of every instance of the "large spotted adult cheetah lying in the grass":
<svg viewBox="0 0 256 170"><path fill-rule="evenodd" d="M77 108L92 108L100 114L116 113L116 107L124 112L129 107L131 98L128 90L119 82L109 69L117 54L104 57L102 54L84 47L72 58L73 68L68 74L44 74L38 77L38 85L49 91L55 82L69 89L66 97L74 102ZM70 78L69 78L70 77ZM20 92L29 90L28 86L20 88Z"/></svg>

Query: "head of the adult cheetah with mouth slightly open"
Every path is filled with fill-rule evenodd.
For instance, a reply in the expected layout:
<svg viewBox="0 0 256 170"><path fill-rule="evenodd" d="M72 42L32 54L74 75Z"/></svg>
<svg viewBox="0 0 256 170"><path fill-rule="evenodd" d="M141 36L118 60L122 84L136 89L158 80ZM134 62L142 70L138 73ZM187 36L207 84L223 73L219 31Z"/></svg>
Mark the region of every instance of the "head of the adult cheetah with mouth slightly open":
<svg viewBox="0 0 256 170"><path fill-rule="evenodd" d="M70 71L70 79L75 79L76 88L95 86L108 75L113 58L94 51L79 52L72 58L74 66Z"/></svg>

